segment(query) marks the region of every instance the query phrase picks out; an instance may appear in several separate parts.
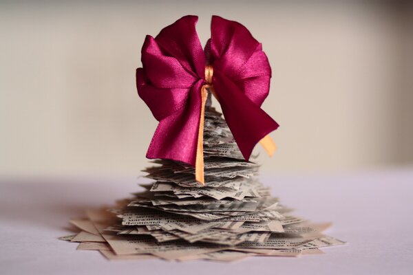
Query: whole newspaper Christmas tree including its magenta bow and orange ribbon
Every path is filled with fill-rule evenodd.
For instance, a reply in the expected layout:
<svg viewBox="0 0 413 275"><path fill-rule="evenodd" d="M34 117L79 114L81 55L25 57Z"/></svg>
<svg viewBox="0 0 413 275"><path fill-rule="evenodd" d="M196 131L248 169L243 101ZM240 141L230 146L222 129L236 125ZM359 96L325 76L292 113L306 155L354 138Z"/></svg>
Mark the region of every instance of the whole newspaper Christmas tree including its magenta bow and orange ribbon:
<svg viewBox="0 0 413 275"><path fill-rule="evenodd" d="M202 50L195 23L183 17L142 48L138 91L160 121L147 153L155 166L145 170L153 182L113 208L88 210L72 221L82 231L63 239L108 259L177 261L318 254L344 243L322 233L328 224L290 214L249 161L257 142L273 153L268 133L278 126L260 109L271 76L260 43L240 23L213 17Z"/></svg>

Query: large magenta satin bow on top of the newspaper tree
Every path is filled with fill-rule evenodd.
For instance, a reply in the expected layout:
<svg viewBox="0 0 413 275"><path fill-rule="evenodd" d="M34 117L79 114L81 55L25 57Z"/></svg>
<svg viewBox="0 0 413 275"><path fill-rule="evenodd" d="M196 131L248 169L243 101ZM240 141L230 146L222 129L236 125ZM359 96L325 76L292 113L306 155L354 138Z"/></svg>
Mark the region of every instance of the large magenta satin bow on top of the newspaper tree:
<svg viewBox="0 0 413 275"><path fill-rule="evenodd" d="M197 21L195 16L182 17L156 38L148 35L142 46L142 68L136 70L138 94L159 121L147 157L195 166L200 89L206 84L208 64L226 123L248 160L255 144L278 127L260 108L270 86L268 58L244 25L218 16L212 17L210 47L204 52L195 30Z"/></svg>

